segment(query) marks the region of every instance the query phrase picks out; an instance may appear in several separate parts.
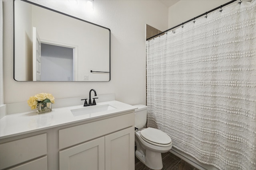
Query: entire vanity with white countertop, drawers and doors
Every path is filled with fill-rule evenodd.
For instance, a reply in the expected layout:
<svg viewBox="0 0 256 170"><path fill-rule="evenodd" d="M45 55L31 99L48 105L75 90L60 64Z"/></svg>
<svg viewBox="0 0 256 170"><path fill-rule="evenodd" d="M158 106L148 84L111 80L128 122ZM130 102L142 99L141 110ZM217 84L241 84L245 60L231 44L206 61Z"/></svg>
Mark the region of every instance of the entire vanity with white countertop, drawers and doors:
<svg viewBox="0 0 256 170"><path fill-rule="evenodd" d="M75 116L71 110L87 108L79 105L6 115L0 119L0 170L134 170L136 107L98 104L105 105L115 109Z"/></svg>

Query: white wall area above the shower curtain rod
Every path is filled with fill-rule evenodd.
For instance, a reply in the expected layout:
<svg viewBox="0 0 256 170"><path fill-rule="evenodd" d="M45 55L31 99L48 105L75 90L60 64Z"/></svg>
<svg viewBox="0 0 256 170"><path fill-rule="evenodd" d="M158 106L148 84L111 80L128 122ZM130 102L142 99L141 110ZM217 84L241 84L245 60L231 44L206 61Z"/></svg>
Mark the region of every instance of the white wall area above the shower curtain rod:
<svg viewBox="0 0 256 170"><path fill-rule="evenodd" d="M179 25L230 0L180 0L169 7L168 28Z"/></svg>

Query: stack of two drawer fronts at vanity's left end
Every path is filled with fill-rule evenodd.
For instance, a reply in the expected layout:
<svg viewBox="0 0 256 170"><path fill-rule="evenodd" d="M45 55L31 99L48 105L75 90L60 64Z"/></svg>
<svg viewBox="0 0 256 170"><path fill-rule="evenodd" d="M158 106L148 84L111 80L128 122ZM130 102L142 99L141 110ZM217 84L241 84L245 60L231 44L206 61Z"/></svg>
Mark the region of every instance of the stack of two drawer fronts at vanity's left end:
<svg viewBox="0 0 256 170"><path fill-rule="evenodd" d="M46 133L1 143L0 169L2 170L8 168L8 170L47 170L46 154Z"/></svg>

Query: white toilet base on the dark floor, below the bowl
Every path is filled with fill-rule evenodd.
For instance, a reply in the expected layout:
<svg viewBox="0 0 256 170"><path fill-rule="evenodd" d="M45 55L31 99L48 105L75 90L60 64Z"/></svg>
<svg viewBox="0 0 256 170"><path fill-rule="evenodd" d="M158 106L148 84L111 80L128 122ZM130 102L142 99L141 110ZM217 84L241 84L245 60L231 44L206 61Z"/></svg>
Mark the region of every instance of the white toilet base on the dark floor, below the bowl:
<svg viewBox="0 0 256 170"><path fill-rule="evenodd" d="M136 150L136 157L144 163L148 168L153 170L161 170L163 168L162 154L146 149L146 155L142 150Z"/></svg>

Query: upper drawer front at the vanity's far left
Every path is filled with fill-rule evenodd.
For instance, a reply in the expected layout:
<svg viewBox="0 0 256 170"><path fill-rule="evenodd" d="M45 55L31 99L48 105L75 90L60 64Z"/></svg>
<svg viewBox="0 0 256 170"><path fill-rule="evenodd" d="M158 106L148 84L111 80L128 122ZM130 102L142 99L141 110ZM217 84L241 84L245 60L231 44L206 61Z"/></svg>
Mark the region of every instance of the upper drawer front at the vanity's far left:
<svg viewBox="0 0 256 170"><path fill-rule="evenodd" d="M0 144L0 169L47 154L46 133Z"/></svg>

